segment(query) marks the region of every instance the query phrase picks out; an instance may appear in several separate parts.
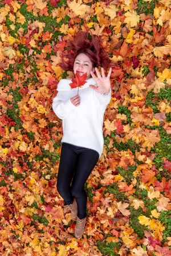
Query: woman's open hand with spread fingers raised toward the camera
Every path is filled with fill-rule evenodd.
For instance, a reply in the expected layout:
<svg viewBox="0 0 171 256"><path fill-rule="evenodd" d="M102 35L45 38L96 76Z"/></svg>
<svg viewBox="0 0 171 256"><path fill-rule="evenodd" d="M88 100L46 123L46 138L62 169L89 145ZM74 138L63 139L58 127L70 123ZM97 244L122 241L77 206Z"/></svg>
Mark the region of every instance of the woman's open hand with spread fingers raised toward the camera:
<svg viewBox="0 0 171 256"><path fill-rule="evenodd" d="M110 82L110 76L112 72L112 68L109 69L108 75L105 76L104 74L104 68L101 68L101 74L99 70L95 67L95 71L97 76L91 71L91 76L93 79L95 79L97 87L95 86L89 86L96 92L99 92L100 94L107 94L111 89L111 82Z"/></svg>

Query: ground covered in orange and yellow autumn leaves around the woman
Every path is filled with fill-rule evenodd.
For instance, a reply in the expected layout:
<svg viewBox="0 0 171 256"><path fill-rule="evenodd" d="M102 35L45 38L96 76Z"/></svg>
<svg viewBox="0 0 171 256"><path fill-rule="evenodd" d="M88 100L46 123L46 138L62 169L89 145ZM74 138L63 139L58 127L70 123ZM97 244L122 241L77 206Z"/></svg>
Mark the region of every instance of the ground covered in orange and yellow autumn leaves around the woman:
<svg viewBox="0 0 171 256"><path fill-rule="evenodd" d="M169 256L171 12L168 0L0 3L0 255ZM79 30L115 62L104 152L86 184L82 239L56 192L60 52Z"/></svg>

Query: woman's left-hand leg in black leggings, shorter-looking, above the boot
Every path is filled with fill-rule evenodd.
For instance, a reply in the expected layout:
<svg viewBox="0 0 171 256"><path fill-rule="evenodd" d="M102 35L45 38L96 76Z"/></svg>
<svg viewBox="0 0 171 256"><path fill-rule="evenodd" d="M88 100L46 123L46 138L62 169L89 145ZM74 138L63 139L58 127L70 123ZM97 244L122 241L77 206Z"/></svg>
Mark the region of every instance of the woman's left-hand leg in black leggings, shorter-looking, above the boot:
<svg viewBox="0 0 171 256"><path fill-rule="evenodd" d="M71 181L76 169L77 157L76 153L72 150L72 146L67 143L62 144L57 190L60 196L62 196L64 203L67 205L72 204L74 200L74 197L71 194Z"/></svg>

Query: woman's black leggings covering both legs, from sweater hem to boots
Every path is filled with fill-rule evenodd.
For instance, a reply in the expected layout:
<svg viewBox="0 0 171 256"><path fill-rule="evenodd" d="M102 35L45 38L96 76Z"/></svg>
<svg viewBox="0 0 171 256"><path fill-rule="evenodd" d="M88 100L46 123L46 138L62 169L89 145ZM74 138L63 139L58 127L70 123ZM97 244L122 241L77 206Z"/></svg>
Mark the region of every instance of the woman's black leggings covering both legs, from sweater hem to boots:
<svg viewBox="0 0 171 256"><path fill-rule="evenodd" d="M74 197L78 205L78 217L86 217L87 194L84 184L99 159L99 153L93 149L62 143L58 170L57 189L69 205Z"/></svg>

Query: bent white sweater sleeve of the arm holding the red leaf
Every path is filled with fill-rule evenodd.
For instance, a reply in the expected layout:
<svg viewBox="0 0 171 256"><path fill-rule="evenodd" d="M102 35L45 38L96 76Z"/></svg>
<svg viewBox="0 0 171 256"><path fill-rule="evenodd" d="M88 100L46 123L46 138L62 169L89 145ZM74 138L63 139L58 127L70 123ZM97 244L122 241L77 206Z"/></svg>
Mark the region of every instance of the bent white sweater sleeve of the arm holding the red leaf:
<svg viewBox="0 0 171 256"><path fill-rule="evenodd" d="M74 109L74 105L71 103L71 100L64 100L64 92L58 91L58 94L54 97L52 102L52 109L55 112L56 116L60 119L64 119L67 115Z"/></svg>

